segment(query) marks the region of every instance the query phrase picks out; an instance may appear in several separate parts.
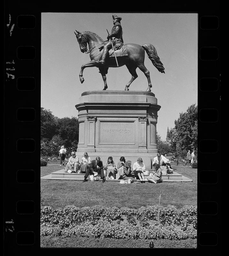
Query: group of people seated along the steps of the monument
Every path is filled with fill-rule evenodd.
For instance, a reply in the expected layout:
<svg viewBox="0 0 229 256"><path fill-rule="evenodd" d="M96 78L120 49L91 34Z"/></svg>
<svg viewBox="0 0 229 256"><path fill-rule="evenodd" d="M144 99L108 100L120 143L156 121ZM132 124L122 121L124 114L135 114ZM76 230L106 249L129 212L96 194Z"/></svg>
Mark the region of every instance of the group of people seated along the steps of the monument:
<svg viewBox="0 0 229 256"><path fill-rule="evenodd" d="M137 162L133 164L131 168L131 161L126 161L124 156L120 157L120 161L116 165L113 161L112 156L109 156L105 165L101 161L99 156L96 156L95 160L91 161L91 158L88 156L88 153L85 152L81 161L79 161L79 157L76 156L76 152L73 151L71 153L71 157L69 158L65 172L75 172L75 173L85 173L83 182L88 181L88 175L96 175L98 179L102 179L103 183L106 180L130 180L134 182L136 180L140 180L141 183L145 183L144 171L145 164L141 157L137 159ZM161 153L157 153L157 156L154 157L153 166L156 172L152 172L150 174L150 180L153 183L158 183L162 181L162 170L160 166L167 167L167 173L172 173L173 169L169 163L169 159L165 158ZM105 170L105 174L104 171ZM92 179L94 181L94 179Z"/></svg>

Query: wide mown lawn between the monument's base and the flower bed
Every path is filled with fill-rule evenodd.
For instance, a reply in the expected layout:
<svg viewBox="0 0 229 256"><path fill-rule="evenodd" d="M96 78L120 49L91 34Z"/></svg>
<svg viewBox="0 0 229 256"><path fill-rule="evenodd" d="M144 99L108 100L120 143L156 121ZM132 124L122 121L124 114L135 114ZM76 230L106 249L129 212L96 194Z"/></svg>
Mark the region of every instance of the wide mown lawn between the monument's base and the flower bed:
<svg viewBox="0 0 229 256"><path fill-rule="evenodd" d="M176 172L192 179L192 182L133 183L120 184L118 181L82 183L81 180L42 180L43 205L54 208L75 205L77 207L103 205L107 207L139 208L158 204L162 191L161 205L197 205L197 169L172 165ZM60 170L59 162L49 162L41 167L41 177Z"/></svg>

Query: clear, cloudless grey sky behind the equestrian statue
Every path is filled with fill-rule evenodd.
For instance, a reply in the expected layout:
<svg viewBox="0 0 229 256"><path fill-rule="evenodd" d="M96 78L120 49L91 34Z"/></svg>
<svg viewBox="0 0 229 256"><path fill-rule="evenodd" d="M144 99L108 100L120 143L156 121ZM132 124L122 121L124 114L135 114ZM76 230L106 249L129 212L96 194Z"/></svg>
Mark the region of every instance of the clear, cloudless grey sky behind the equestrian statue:
<svg viewBox="0 0 229 256"><path fill-rule="evenodd" d="M59 118L76 116L75 105L82 92L103 90L98 68L85 68L80 83L82 64L89 54L80 52L74 30L91 31L106 40L113 27L112 14L122 17L124 44L153 44L165 68L160 73L145 53L145 66L150 72L151 91L161 106L157 132L165 140L167 127L174 127L179 113L197 104L197 13L42 13L41 107ZM131 91L146 90L147 78L139 68ZM124 90L131 75L126 68L109 68L107 90Z"/></svg>

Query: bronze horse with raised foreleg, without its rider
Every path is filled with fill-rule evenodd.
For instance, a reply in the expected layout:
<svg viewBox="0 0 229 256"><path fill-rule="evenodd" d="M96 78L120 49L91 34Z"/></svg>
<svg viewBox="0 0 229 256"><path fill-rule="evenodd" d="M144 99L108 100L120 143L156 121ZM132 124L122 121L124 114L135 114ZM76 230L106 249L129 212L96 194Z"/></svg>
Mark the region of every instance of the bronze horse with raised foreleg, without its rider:
<svg viewBox="0 0 229 256"><path fill-rule="evenodd" d="M75 32L76 31L76 32ZM105 41L95 33L90 31L78 32L75 30L74 33L76 35L77 41L80 44L80 51L85 53L90 53L90 59L86 64L81 66L80 70L80 82L81 84L84 82L83 78L83 70L88 67L97 67L99 68L99 73L101 73L104 82L103 90L106 90L107 82L106 82L106 74L108 68L117 67L117 63L114 57L110 57L109 60L106 61L105 65L99 64L99 59L102 56L101 48L103 47ZM89 50L87 48L87 44ZM157 68L157 70L161 73L164 73L164 67L160 58L157 56L156 49L152 44L124 44L126 56L117 56L118 67L126 65L130 74L132 75L130 81L126 84L125 91L129 91L130 84L138 77L136 73L136 68L138 67L147 77L148 80L148 88L147 92L151 92L150 88L152 88L152 84L150 81L149 70L144 65L145 59L145 51L148 54L149 59L152 61L153 65ZM115 51L115 53L118 52Z"/></svg>

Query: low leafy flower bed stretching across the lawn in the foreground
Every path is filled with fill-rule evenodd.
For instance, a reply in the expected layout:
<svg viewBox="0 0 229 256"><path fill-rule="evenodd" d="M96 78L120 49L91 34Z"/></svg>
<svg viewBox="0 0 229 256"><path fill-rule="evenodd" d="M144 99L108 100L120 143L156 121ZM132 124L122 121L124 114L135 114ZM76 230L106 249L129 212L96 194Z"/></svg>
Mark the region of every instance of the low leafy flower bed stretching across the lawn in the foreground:
<svg viewBox="0 0 229 256"><path fill-rule="evenodd" d="M52 209L41 207L41 236L112 237L133 239L196 238L197 207L185 205L178 210L173 205L139 209L127 207L75 207Z"/></svg>

